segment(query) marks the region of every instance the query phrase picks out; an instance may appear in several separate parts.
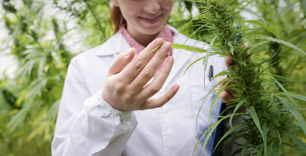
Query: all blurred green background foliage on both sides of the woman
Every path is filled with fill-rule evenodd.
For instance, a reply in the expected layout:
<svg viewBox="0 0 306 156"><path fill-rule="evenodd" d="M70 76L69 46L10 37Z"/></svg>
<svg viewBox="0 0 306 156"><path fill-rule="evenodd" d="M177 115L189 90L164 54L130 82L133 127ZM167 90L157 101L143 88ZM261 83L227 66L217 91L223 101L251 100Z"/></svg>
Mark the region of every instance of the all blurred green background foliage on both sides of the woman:
<svg viewBox="0 0 306 156"><path fill-rule="evenodd" d="M0 53L9 50L18 68L14 78L3 74L0 79L0 156L51 155L67 67L73 56L102 44L113 34L109 24L111 3L109 0L2 0L1 3L0 22L4 23L8 36L1 42ZM181 30L198 13L197 7L201 4L176 0L168 23ZM306 0L254 0L249 8L263 16L283 40L306 51ZM252 15L247 18L259 20ZM192 25L200 20L193 22L181 33L189 35L195 31L198 27ZM258 31L271 35L266 30ZM209 33L201 31L191 37L199 39ZM305 56L271 43L254 59L266 59L278 50L271 63L282 61L272 65L271 73L301 83L304 86L279 79L282 84L288 83L285 87L289 92L306 95ZM305 105L301 101L299 104ZM303 134L295 135L306 142ZM288 147L283 149L279 155L295 154L286 150Z"/></svg>

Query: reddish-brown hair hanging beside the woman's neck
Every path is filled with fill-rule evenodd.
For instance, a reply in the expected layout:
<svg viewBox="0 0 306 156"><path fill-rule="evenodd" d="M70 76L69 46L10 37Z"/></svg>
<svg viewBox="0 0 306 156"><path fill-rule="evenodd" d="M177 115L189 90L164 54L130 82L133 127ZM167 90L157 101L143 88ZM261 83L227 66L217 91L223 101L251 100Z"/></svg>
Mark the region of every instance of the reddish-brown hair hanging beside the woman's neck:
<svg viewBox="0 0 306 156"><path fill-rule="evenodd" d="M114 34L119 31L123 24L126 24L126 21L121 14L120 8L113 6L110 10L110 25L114 30Z"/></svg>

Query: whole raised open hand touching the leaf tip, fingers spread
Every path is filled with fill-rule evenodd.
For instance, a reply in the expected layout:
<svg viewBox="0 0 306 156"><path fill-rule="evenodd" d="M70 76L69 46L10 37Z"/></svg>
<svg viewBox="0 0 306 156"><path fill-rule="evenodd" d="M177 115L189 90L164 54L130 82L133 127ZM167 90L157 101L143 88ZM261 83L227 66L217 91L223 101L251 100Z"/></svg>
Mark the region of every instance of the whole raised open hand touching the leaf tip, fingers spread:
<svg viewBox="0 0 306 156"><path fill-rule="evenodd" d="M149 53L158 45L162 46ZM169 42L163 43L162 38L151 42L134 60L136 49L131 48L121 53L111 63L104 82L102 97L115 109L121 111L136 111L162 107L167 103L179 89L178 84L172 85L166 93L158 98L152 98L165 83L174 63L174 58L166 58L162 69L155 76L153 81L146 85L153 78L158 67L171 49ZM146 85L146 86L145 86Z"/></svg>

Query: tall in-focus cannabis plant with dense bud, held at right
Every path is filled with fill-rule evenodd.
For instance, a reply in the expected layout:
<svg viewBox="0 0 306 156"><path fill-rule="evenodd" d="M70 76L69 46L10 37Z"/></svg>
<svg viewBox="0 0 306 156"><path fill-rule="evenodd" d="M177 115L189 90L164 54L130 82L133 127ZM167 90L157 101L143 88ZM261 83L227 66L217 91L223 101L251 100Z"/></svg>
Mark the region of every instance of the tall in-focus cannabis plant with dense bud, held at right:
<svg viewBox="0 0 306 156"><path fill-rule="evenodd" d="M219 147L225 147L238 138L244 138L247 140L246 143L242 145L243 147L241 149L235 151L234 154L268 155L270 153L271 155L278 155L280 144L285 144L286 146L291 146L292 148L306 152L306 144L293 135L294 132L304 132L306 134L306 123L300 111L304 109L300 108L293 99L297 98L306 101L306 96L289 93L276 79L287 78L271 74L267 70L271 65L265 67L265 63L269 63L277 52L272 57L260 63L249 59L250 56L260 52L263 46L270 42L284 44L304 55L306 53L297 46L283 41L266 23L263 24L255 20L238 18L237 15L241 12L251 13L259 17L256 13L245 9L249 3L242 5L244 2L241 2L240 4L230 5L233 0L203 0L195 2L202 3L201 10L203 11L194 18L194 20L201 20L198 23L201 24L201 27L192 34L201 31L204 27L211 30L213 32L212 34L205 35L198 40L210 42L209 47L208 49L199 49L173 44L172 48L206 53L205 57L196 60L203 60L205 70L207 68L208 56L230 56L235 62L234 65L230 66L230 70L222 71L212 78L213 80L219 76L228 75L228 78L220 81L202 98L200 103L201 107L207 96L214 93L216 87L222 82L225 82L225 85L217 89L218 93L211 104L210 110L218 104L215 101L222 90L232 89L237 92L233 95L236 98L228 101L231 106L227 107L227 109L232 110L232 113L219 116L219 120L205 131L205 134L199 139L196 146L204 139L202 145L203 154L207 141L218 124L222 120L229 118L231 129L222 136L214 150L219 149ZM187 25L189 23L191 21ZM245 27L246 23L259 27L248 28ZM256 30L259 28L267 29L275 37L256 34ZM242 38L238 39L240 35ZM261 42L250 45L250 40L252 39L260 40ZM248 43L248 46L244 47L244 43ZM248 50L251 53L246 56ZM274 87L275 85L273 83L276 83L277 87ZM241 107L246 107L247 111L238 113L237 110ZM244 118L241 117L242 115L244 115ZM209 118L210 116L211 111ZM234 116L242 118L243 122L233 125ZM245 118L245 116L248 117ZM294 147L291 144L283 142L286 139L295 141L300 147Z"/></svg>

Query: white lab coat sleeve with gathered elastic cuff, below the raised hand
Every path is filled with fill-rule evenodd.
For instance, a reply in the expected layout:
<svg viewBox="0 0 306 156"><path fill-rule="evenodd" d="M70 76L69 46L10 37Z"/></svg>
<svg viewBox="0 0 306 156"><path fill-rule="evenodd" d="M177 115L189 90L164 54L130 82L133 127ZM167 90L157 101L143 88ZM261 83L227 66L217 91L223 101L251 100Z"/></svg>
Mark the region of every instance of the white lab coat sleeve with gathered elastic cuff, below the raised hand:
<svg viewBox="0 0 306 156"><path fill-rule="evenodd" d="M133 112L111 107L101 96L90 96L76 60L65 79L51 145L53 156L118 156L136 128Z"/></svg>

